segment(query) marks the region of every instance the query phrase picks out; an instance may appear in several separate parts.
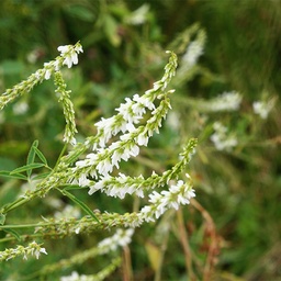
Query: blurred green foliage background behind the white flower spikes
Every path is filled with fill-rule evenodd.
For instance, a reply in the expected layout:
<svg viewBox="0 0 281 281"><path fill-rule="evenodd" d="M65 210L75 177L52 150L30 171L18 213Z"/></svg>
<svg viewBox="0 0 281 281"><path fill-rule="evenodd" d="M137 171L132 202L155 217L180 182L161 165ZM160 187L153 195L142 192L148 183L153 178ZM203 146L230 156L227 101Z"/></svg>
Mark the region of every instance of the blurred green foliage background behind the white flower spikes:
<svg viewBox="0 0 281 281"><path fill-rule="evenodd" d="M160 135L125 168L144 176L167 169L177 162L181 145L199 137L198 153L188 168L198 204L182 209L194 280L281 280L280 1L1 0L0 90L4 92L56 57L58 46L80 41L85 53L79 65L64 75L82 140L95 133L93 123L114 114L125 97L142 94L161 77L166 49L182 56L181 43L194 37L188 38L184 31L194 23L205 31L206 43L198 68L173 79L177 124L167 121ZM34 139L49 164L55 164L63 147L64 116L54 90L52 81L45 81L0 112L0 170L24 165ZM196 106L233 90L243 97L238 111L203 112ZM271 99L274 106L267 119L255 114L255 101ZM210 140L214 122L236 136L233 149L217 150ZM1 204L14 199L22 184L5 179L0 183ZM114 212L132 211L135 200L80 196L93 209ZM41 215L53 213L54 206L37 201L9 222L40 221ZM177 223L168 216L136 231L131 247L135 280L153 280L157 255L151 252L160 249L165 224L170 235L161 280L187 280L188 276L190 280ZM101 235L67 238L64 245L46 241L47 257L40 262L5 262L0 266L0 280L7 280L11 270L27 274L87 249ZM94 266L104 265L102 258L63 273L93 273ZM121 280L121 274L109 280Z"/></svg>

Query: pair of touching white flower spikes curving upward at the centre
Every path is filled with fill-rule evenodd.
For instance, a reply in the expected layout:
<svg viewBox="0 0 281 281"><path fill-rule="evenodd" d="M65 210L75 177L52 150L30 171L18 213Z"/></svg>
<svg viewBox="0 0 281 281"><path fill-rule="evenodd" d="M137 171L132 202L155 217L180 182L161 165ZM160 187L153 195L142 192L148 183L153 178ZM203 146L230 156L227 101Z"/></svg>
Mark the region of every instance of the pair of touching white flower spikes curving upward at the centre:
<svg viewBox="0 0 281 281"><path fill-rule="evenodd" d="M108 177L113 168L119 168L121 160L127 161L130 157L139 154L139 146L146 146L148 138L154 132L158 133L162 120L170 109L168 94L173 90L165 91L171 77L175 76L177 57L170 53L171 57L165 67L161 80L154 83L154 88L146 91L143 97L135 94L133 99L127 98L116 111L116 115L110 119L102 119L98 122L98 133L92 144L93 151L85 159L76 162L72 169L72 183L81 187L95 184L91 179ZM159 105L154 104L155 99L160 99ZM150 119L144 125L139 124L146 111L150 111ZM108 143L112 137L119 140ZM90 191L91 193L91 191Z"/></svg>

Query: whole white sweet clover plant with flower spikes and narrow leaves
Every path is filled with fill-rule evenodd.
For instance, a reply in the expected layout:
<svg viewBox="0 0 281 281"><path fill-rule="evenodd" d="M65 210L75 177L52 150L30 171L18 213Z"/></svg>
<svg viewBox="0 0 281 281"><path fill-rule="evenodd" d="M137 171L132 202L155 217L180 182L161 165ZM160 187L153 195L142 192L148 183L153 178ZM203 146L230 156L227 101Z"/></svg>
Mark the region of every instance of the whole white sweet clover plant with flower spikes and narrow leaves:
<svg viewBox="0 0 281 281"><path fill-rule="evenodd" d="M0 251L0 260L8 261L18 256L23 259L41 254L54 255L54 249L44 247L46 239L63 239L66 236L90 234L97 231L114 231L115 233L102 239L91 249L76 254L69 259L63 259L55 265L44 266L38 274L47 274L61 267L70 268L89 258L116 252L117 248L126 247L134 235L136 227L145 223L156 222L169 210L179 210L195 196L192 180L187 173L187 166L195 151L196 139L191 138L182 147L178 162L170 169L147 178L143 175L132 177L126 175L123 162L137 157L142 147L148 145L150 137L159 133L164 120L171 110L170 98L175 90L169 89L172 77L176 75L177 56L167 52L169 61L165 66L162 78L153 85L144 94L134 94L126 98L116 109L116 114L95 123L97 134L90 135L82 142L77 139L76 112L71 101L71 91L67 89L63 68L71 68L78 64L78 55L83 53L81 44L59 46L60 53L54 60L44 64L42 69L32 74L26 80L8 89L0 97L0 110L27 94L38 83L45 80L54 81L55 93L61 104L65 116L65 143L57 162L49 166L48 160L40 150L40 140L34 140L27 154L26 164L14 170L0 171L1 177L26 182L24 192L2 205L0 209L0 229L3 233L1 243L16 241L18 246ZM194 53L195 55L191 56ZM183 58L189 67L195 64L202 54L202 46L191 44ZM123 200L125 196L142 199L139 210L131 213L109 212L108 210L91 210L77 192L87 189L93 200L98 192L106 196ZM45 217L41 222L29 224L12 224L9 214L20 210L33 200L44 200L50 191L66 196L83 213L81 216ZM80 212L79 211L79 212ZM9 222L9 223L7 223ZM103 280L121 265L121 258L109 261L109 266L93 276L81 276L81 280ZM36 277L33 276L33 278ZM78 280L77 272L61 280ZM80 280L79 279L79 280Z"/></svg>

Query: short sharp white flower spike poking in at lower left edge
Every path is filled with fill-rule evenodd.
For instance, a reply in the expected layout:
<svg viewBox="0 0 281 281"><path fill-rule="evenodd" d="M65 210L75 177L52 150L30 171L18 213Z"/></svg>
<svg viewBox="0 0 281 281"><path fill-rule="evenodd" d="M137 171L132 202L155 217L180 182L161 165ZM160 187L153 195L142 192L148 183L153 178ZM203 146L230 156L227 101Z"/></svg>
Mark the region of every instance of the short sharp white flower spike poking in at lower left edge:
<svg viewBox="0 0 281 281"><path fill-rule="evenodd" d="M27 247L23 247L20 245L14 249L10 248L10 249L0 251L0 261L13 259L22 255L23 255L23 259L27 259L27 256L35 256L36 259L38 259L42 252L47 255L45 248L42 248L41 245L38 245L36 241L32 241L29 244Z"/></svg>

